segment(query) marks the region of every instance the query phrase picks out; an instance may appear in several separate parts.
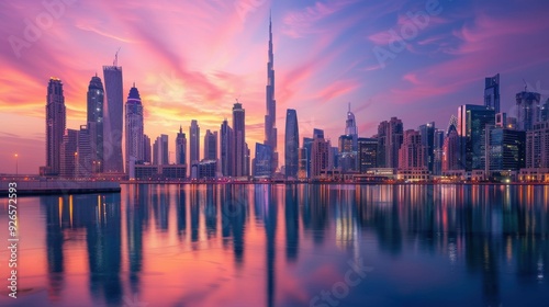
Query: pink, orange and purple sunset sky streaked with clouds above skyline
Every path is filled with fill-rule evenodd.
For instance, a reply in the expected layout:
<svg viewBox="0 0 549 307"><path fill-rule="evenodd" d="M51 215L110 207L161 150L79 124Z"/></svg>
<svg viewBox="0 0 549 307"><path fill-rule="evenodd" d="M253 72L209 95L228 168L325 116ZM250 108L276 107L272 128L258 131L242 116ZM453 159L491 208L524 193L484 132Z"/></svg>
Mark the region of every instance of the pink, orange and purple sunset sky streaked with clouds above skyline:
<svg viewBox="0 0 549 307"><path fill-rule="evenodd" d="M264 140L269 13L281 164L287 109L301 139L322 128L336 146L348 103L359 136L370 137L392 116L405 129L446 128L459 105L483 103L495 73L503 112L514 114L525 87L549 98L545 0L138 2L0 2L0 173L45 163L49 78L63 80L67 128L78 128L91 77L103 77L119 48L124 99L135 82L152 139L169 135L175 151L191 120L203 138L232 122L238 99L253 150Z"/></svg>

